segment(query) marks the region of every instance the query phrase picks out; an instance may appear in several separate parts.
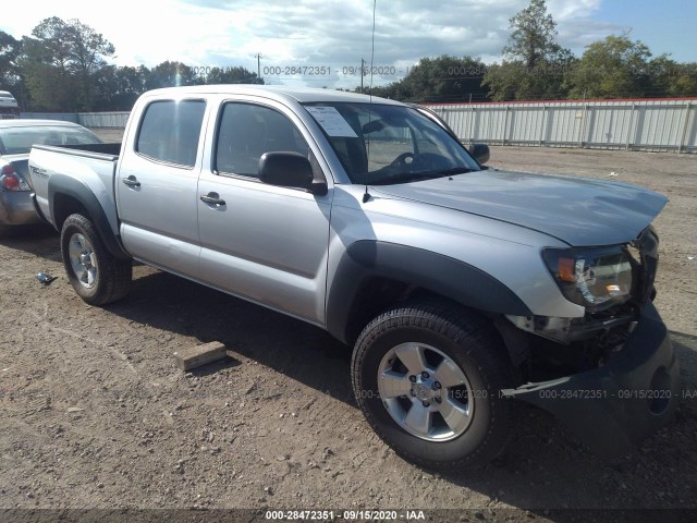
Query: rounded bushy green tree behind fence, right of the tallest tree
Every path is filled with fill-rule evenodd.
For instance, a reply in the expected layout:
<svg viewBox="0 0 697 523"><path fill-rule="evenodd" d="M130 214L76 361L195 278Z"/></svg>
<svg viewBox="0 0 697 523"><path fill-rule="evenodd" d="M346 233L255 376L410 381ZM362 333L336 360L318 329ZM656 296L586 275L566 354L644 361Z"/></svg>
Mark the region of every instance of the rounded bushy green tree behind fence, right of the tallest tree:
<svg viewBox="0 0 697 523"><path fill-rule="evenodd" d="M628 98L651 93L651 52L627 35L608 36L586 47L568 74L572 98Z"/></svg>

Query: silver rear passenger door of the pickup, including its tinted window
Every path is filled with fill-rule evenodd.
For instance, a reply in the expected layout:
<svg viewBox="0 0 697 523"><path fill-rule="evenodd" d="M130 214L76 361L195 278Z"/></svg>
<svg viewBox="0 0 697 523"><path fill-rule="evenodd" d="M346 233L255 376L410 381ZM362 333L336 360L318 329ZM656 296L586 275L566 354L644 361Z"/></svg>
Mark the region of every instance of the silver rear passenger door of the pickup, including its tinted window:
<svg viewBox="0 0 697 523"><path fill-rule="evenodd" d="M149 102L135 139L122 150L115 179L121 236L129 253L193 277L200 253L196 214L205 114L201 99Z"/></svg>

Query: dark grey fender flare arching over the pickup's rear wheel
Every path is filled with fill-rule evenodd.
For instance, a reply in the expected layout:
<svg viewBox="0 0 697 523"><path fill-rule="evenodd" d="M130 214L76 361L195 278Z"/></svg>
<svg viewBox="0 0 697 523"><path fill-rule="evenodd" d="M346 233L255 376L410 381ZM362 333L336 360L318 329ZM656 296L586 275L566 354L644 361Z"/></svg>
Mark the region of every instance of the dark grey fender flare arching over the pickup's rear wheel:
<svg viewBox="0 0 697 523"><path fill-rule="evenodd" d="M99 238L111 255L118 259L132 259L123 248L119 238L111 230L105 209L89 187L65 174L53 174L48 181L48 200L50 202L51 221L60 232L61 224L56 216L56 196L69 196L78 202L89 214Z"/></svg>

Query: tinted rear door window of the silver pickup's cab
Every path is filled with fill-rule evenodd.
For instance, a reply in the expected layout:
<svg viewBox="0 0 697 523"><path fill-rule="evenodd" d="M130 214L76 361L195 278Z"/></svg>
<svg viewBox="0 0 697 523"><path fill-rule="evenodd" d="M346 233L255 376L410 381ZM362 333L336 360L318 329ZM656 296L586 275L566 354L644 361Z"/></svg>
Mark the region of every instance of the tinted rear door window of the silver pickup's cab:
<svg viewBox="0 0 697 523"><path fill-rule="evenodd" d="M205 110L203 100L150 104L140 123L136 150L156 160L193 167Z"/></svg>

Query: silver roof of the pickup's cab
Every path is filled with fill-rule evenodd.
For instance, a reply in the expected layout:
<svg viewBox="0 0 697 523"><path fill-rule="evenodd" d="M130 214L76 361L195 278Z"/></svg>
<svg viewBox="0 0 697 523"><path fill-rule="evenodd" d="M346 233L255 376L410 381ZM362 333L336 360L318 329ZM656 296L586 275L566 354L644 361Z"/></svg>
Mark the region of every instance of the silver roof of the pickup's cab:
<svg viewBox="0 0 697 523"><path fill-rule="evenodd" d="M337 102L353 101L354 104L390 104L403 105L395 100L379 98L377 96L359 95L334 89L318 89L311 87L289 87L288 85L249 85L249 84L220 84L197 85L186 87L167 87L145 93L144 96L172 96L182 97L191 95L255 95L271 98L279 101L307 102Z"/></svg>

